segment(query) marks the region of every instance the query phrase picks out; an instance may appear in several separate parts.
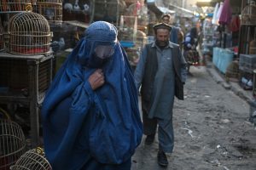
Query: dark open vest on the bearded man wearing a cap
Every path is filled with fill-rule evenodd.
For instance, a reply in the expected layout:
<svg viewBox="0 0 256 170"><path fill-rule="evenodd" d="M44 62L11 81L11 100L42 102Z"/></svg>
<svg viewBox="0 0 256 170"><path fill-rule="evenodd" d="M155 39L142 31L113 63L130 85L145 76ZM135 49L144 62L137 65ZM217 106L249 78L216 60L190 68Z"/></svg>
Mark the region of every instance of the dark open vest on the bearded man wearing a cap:
<svg viewBox="0 0 256 170"><path fill-rule="evenodd" d="M145 63L141 94L143 101L148 103L148 107L150 107L153 101L152 93L154 87L154 77L158 70L158 59L156 54L156 47L152 47L152 43L148 43L145 48L147 50L147 58ZM175 71L175 95L177 99L183 99L183 82L181 81L180 55L181 54L178 50L178 47L172 48L172 59Z"/></svg>

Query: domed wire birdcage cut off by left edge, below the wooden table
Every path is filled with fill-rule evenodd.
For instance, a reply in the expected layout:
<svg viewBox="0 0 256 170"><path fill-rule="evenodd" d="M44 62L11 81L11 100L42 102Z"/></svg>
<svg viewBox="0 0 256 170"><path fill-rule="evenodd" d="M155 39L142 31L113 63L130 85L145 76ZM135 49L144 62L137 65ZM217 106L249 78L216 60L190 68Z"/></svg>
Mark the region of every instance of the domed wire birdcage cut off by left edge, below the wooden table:
<svg viewBox="0 0 256 170"><path fill-rule="evenodd" d="M26 151L24 133L16 122L0 119L0 170L7 170Z"/></svg>

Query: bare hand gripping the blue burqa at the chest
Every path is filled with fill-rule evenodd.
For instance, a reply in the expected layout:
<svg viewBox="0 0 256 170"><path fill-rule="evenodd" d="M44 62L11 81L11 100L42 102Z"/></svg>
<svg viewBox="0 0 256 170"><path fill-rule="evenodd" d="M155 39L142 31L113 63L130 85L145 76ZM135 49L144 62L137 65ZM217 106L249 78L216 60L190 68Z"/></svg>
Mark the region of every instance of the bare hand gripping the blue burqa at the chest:
<svg viewBox="0 0 256 170"><path fill-rule="evenodd" d="M90 82L90 87L93 90L96 90L96 88L100 88L105 82L105 77L102 72L102 69L97 69L96 71L94 71L90 75L88 81Z"/></svg>

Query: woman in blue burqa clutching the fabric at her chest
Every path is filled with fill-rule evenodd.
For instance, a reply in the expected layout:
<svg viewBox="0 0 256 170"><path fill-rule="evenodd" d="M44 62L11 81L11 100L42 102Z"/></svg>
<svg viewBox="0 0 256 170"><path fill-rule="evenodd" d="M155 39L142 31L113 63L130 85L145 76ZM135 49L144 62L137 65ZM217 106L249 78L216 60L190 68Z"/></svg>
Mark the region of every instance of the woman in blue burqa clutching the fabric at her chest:
<svg viewBox="0 0 256 170"><path fill-rule="evenodd" d="M143 135L137 103L116 27L91 24L44 99L44 150L53 169L131 169Z"/></svg>

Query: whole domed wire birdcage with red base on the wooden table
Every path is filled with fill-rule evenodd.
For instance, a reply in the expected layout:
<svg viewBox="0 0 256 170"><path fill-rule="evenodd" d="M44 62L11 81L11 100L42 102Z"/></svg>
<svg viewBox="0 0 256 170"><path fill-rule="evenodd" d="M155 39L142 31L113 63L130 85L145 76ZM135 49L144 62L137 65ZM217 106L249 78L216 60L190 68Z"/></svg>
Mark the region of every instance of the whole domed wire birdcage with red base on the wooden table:
<svg viewBox="0 0 256 170"><path fill-rule="evenodd" d="M51 32L49 22L42 14L23 12L9 20L10 54L47 54L50 50Z"/></svg>

